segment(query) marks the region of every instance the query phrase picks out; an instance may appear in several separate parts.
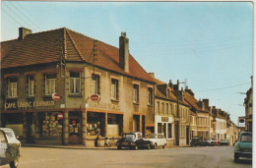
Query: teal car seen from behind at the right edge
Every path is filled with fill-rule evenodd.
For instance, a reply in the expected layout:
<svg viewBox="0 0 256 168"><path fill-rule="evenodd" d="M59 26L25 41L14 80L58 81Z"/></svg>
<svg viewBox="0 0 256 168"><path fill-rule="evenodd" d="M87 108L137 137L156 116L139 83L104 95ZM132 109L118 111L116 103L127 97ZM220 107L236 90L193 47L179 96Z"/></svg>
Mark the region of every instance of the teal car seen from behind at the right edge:
<svg viewBox="0 0 256 168"><path fill-rule="evenodd" d="M234 144L234 162L238 162L239 157L252 158L252 133L241 132Z"/></svg>

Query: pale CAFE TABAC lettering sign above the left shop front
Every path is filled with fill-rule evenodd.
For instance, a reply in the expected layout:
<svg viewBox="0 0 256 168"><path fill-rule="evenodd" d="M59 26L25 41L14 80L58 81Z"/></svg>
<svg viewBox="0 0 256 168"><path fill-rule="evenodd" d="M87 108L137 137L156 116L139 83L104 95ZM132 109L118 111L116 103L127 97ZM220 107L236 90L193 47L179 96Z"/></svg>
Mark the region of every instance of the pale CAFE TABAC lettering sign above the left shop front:
<svg viewBox="0 0 256 168"><path fill-rule="evenodd" d="M39 107L52 107L54 106L54 100L48 101L17 101L17 102L6 102L4 108L6 110L14 110L14 109L31 109L31 108L39 108Z"/></svg>

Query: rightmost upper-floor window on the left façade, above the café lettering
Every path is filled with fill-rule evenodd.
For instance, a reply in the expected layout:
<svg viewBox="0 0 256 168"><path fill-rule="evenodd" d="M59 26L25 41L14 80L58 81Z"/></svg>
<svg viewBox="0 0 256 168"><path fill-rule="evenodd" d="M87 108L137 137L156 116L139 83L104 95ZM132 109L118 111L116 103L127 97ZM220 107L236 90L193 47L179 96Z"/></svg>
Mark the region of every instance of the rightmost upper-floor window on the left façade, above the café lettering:
<svg viewBox="0 0 256 168"><path fill-rule="evenodd" d="M56 74L45 75L45 95L51 95L55 93L56 77Z"/></svg>

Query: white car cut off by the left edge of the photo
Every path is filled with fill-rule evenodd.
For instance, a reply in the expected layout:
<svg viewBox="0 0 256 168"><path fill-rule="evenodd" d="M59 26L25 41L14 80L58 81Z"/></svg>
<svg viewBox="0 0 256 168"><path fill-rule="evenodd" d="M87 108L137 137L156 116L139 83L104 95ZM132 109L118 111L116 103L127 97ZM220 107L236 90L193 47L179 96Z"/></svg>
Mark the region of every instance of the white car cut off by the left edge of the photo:
<svg viewBox="0 0 256 168"><path fill-rule="evenodd" d="M0 128L0 165L9 164L17 168L19 163L21 142L17 140L12 129Z"/></svg>

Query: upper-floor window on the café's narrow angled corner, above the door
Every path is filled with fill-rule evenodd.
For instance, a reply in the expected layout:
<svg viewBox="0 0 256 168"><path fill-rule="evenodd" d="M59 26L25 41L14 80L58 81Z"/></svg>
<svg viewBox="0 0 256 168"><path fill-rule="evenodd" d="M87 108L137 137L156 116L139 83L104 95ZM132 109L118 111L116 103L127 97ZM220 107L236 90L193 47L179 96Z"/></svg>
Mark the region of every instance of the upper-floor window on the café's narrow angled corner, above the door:
<svg viewBox="0 0 256 168"><path fill-rule="evenodd" d="M70 93L80 93L80 72L70 72Z"/></svg>

